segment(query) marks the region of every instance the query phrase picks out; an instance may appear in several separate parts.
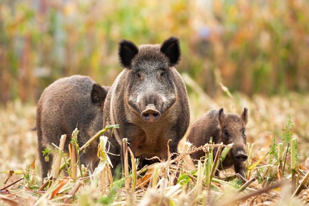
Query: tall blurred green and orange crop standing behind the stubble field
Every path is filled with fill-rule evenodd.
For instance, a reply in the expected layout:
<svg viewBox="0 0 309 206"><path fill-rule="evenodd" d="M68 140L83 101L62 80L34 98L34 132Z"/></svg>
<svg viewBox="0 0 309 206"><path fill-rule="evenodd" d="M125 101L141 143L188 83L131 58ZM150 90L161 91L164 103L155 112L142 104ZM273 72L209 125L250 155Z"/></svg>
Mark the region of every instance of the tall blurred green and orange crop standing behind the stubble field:
<svg viewBox="0 0 309 206"><path fill-rule="evenodd" d="M181 41L180 73L211 97L308 92L309 1L0 1L0 100L36 103L57 78L111 85L117 43ZM219 80L218 80L219 78ZM218 80L218 81L217 81Z"/></svg>

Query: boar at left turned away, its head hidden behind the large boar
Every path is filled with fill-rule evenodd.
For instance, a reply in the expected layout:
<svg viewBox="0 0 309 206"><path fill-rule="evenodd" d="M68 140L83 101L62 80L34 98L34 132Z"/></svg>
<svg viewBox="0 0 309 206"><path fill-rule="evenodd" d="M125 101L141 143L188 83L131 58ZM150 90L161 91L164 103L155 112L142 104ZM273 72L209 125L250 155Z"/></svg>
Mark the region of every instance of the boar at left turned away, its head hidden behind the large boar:
<svg viewBox="0 0 309 206"><path fill-rule="evenodd" d="M67 134L64 151L68 153L71 134L77 127L78 145L81 147L95 135L103 125L103 106L109 87L100 86L91 78L74 75L61 78L49 85L42 93L36 110L38 150L42 165L42 177L51 169L53 157L45 162L42 151L51 143L59 145L62 134ZM95 141L81 156L81 164L97 165Z"/></svg>

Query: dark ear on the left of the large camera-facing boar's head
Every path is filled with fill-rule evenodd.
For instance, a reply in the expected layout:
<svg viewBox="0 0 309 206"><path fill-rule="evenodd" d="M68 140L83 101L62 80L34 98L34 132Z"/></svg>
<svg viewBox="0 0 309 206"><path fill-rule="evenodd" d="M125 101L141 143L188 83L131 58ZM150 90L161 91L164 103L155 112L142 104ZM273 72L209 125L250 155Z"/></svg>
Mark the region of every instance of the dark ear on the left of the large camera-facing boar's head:
<svg viewBox="0 0 309 206"><path fill-rule="evenodd" d="M138 48L132 41L123 39L119 42L118 56L123 67L129 67L137 53Z"/></svg>

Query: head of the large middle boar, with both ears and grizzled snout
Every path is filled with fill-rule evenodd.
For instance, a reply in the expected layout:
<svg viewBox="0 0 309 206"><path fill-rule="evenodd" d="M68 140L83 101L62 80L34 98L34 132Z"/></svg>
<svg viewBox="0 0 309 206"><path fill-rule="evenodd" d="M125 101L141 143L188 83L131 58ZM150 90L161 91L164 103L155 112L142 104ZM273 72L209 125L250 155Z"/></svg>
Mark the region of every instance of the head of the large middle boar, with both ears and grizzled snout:
<svg viewBox="0 0 309 206"><path fill-rule="evenodd" d="M129 40L119 43L121 65L128 69L128 103L146 122L155 122L176 101L172 69L180 62L179 39L163 44L136 46Z"/></svg>

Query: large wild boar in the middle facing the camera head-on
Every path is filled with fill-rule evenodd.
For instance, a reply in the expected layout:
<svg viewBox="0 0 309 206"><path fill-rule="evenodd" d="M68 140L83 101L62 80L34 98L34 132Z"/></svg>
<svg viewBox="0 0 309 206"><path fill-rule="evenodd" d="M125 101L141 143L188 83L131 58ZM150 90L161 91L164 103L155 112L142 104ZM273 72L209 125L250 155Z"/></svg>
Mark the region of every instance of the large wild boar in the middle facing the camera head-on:
<svg viewBox="0 0 309 206"><path fill-rule="evenodd" d="M171 153L184 136L190 119L188 95L174 66L180 61L179 40L170 37L163 44L140 45L129 40L119 43L119 58L125 69L113 83L104 105L104 125L120 124L107 136L111 153L121 154L122 138L142 165L145 158L167 159L167 141ZM174 155L175 157L175 155ZM173 158L174 158L173 157ZM119 156L111 155L115 166ZM130 162L130 161L129 161Z"/></svg>

